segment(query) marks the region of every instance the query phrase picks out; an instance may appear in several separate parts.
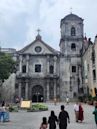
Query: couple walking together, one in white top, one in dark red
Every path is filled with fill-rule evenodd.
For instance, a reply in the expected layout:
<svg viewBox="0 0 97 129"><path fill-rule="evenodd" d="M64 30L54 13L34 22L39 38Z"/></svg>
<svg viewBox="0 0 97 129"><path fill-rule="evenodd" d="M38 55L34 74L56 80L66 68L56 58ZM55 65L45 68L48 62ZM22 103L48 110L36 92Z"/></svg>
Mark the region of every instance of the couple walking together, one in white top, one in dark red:
<svg viewBox="0 0 97 129"><path fill-rule="evenodd" d="M74 105L74 112L76 122L82 122L84 120L84 110L81 103L76 102Z"/></svg>

